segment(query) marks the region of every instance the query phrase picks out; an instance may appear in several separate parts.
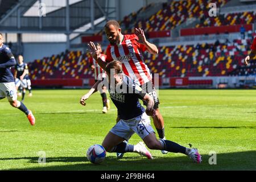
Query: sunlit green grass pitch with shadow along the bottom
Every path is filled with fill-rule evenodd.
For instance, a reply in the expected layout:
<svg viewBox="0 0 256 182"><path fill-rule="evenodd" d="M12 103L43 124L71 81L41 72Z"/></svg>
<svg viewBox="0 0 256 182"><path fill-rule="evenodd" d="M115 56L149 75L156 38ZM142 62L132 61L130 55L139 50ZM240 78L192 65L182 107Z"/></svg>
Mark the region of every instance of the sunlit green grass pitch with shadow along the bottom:
<svg viewBox="0 0 256 182"><path fill-rule="evenodd" d="M160 111L166 137L199 149L201 164L183 154L152 151L154 160L125 154L117 160L107 153L104 163L91 164L86 150L101 144L115 125L117 110L101 114L100 94L86 106L79 104L88 90L34 90L24 104L34 111L36 125L0 101L1 170L255 170L256 90L160 90ZM20 98L19 98L20 100ZM153 125L153 124L152 124ZM131 144L141 139L134 135ZM46 164L38 163L38 152L46 152ZM210 165L209 152L216 152Z"/></svg>

